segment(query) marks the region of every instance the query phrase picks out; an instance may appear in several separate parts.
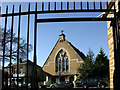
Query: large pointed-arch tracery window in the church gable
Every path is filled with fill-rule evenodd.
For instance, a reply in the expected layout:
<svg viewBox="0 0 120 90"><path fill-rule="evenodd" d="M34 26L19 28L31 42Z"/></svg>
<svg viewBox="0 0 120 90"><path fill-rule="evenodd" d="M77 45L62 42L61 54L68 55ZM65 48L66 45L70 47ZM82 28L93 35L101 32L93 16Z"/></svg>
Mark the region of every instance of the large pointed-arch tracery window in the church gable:
<svg viewBox="0 0 120 90"><path fill-rule="evenodd" d="M64 50L60 50L58 52L55 63L56 72L69 71L69 59L67 53Z"/></svg>

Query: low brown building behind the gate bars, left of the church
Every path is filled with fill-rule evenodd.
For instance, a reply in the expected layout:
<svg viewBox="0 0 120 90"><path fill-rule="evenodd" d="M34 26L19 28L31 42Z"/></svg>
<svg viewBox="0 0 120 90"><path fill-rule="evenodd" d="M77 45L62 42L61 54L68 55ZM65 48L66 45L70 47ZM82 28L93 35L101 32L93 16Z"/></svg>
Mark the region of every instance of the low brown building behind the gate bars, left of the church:
<svg viewBox="0 0 120 90"><path fill-rule="evenodd" d="M11 76L10 76L10 68L9 65L5 67L5 71L8 72L8 85L10 84L10 77L12 79L12 82L17 83L17 63L11 64ZM37 79L38 82L42 83L45 81L45 72L43 72L42 67L36 66L34 68L34 63L30 60L28 60L28 83L32 83L32 79L34 76L35 71L37 71ZM27 60L20 60L19 61L19 79L18 82L19 84L26 84L27 82Z"/></svg>

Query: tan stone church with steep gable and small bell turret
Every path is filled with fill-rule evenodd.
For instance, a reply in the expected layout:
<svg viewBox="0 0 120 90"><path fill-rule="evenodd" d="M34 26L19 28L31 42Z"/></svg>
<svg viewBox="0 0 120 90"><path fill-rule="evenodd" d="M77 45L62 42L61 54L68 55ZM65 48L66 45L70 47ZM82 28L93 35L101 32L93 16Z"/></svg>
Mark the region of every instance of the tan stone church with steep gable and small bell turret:
<svg viewBox="0 0 120 90"><path fill-rule="evenodd" d="M46 85L51 83L76 80L77 69L84 62L85 55L65 39L65 34L59 39L43 65L43 70L49 73L46 76Z"/></svg>

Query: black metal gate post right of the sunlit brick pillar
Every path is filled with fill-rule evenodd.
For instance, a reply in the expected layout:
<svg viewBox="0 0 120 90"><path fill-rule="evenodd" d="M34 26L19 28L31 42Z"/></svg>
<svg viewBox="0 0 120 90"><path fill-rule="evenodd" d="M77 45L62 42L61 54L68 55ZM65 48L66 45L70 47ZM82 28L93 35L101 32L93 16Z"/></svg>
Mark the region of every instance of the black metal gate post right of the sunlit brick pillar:
<svg viewBox="0 0 120 90"><path fill-rule="evenodd" d="M114 39L114 74L113 74L113 85L114 90L120 88L120 43L119 43L119 24L118 16L115 15L113 21L113 39Z"/></svg>

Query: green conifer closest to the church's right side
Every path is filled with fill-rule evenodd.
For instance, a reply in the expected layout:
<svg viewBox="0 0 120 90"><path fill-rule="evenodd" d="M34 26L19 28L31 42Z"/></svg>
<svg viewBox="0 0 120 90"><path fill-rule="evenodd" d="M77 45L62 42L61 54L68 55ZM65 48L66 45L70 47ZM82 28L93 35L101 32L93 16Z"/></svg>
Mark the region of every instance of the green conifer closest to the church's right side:
<svg viewBox="0 0 120 90"><path fill-rule="evenodd" d="M92 76L93 60L94 60L94 53L89 49L89 52L84 60L84 63L82 63L78 68L80 78L87 78Z"/></svg>

